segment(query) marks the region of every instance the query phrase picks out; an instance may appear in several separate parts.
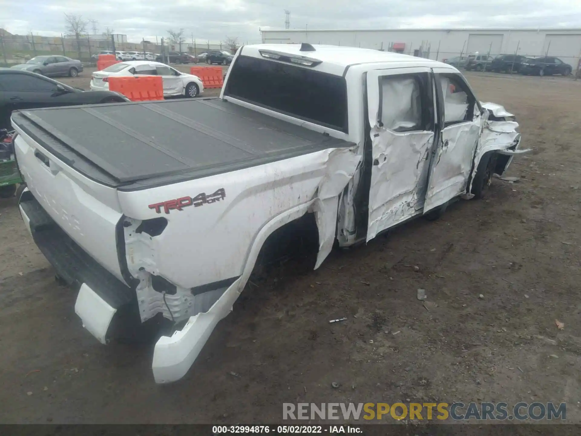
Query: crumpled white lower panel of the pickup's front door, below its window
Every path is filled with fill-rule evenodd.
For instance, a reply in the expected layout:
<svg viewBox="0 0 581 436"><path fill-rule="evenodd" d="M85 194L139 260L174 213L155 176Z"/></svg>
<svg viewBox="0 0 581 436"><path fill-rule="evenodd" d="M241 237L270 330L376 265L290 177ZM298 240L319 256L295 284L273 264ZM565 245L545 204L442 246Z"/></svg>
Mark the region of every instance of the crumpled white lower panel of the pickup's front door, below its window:
<svg viewBox="0 0 581 436"><path fill-rule="evenodd" d="M442 131L442 142L432 158L424 213L464 194L476 142L480 136L480 118L453 124Z"/></svg>

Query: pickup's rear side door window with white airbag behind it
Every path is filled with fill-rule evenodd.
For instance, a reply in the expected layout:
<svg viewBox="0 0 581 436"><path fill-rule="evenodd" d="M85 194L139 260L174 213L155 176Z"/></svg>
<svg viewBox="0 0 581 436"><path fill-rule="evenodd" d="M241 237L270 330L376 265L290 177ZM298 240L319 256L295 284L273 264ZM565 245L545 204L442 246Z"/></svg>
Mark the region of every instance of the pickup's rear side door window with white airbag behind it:
<svg viewBox="0 0 581 436"><path fill-rule="evenodd" d="M427 73L379 78L378 124L396 132L431 130L433 103Z"/></svg>

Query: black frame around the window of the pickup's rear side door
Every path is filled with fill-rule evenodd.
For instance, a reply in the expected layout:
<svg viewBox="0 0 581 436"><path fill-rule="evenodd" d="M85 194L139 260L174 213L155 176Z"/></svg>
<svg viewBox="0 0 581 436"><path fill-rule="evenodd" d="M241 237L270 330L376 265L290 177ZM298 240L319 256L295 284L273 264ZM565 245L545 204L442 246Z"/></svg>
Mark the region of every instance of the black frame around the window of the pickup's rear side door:
<svg viewBox="0 0 581 436"><path fill-rule="evenodd" d="M422 80L422 76L424 80ZM377 120L376 120L378 126L383 127L383 121L381 120L383 112L383 81L389 80L391 78L413 78L414 81L418 84L421 105L420 113L422 119L420 121L419 128L416 126L397 129L392 129L388 127L385 128L395 133L434 131L433 111L435 105L433 102L431 73L428 72L385 74L383 76L378 76L379 106L377 109ZM431 112L429 110L430 106L432 107Z"/></svg>

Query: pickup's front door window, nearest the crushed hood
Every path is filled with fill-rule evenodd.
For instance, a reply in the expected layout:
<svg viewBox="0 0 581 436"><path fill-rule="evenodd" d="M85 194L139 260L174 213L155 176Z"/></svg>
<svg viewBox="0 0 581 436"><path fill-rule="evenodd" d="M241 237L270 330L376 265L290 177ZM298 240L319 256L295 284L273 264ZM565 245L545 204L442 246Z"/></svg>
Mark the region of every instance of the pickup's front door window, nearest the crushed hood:
<svg viewBox="0 0 581 436"><path fill-rule="evenodd" d="M439 74L444 103L444 126L474 119L476 99L468 85L456 74Z"/></svg>

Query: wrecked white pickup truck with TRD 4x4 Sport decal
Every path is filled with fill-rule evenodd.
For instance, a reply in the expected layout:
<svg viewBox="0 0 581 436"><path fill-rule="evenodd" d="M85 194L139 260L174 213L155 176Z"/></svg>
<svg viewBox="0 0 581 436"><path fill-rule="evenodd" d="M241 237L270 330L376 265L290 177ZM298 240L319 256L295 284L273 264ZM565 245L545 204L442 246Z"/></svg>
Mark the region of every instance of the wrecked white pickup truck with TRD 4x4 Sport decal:
<svg viewBox="0 0 581 436"><path fill-rule="evenodd" d="M119 317L174 321L157 383L187 373L278 229L316 226L317 268L333 244L481 196L523 152L514 117L456 68L309 44L240 48L220 98L22 110L12 124L21 215L78 290L83 326L106 344Z"/></svg>

